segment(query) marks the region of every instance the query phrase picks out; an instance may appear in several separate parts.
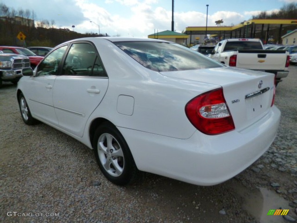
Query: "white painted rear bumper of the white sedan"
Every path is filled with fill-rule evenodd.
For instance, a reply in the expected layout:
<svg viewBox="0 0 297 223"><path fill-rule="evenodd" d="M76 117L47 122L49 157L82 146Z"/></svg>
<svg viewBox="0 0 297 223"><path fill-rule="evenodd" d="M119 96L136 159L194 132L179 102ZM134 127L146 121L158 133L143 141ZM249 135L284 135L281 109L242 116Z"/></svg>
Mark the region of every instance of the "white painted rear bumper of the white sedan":
<svg viewBox="0 0 297 223"><path fill-rule="evenodd" d="M196 131L176 139L119 128L138 169L196 185L228 180L255 162L277 134L280 111L268 114L244 130L208 136Z"/></svg>

